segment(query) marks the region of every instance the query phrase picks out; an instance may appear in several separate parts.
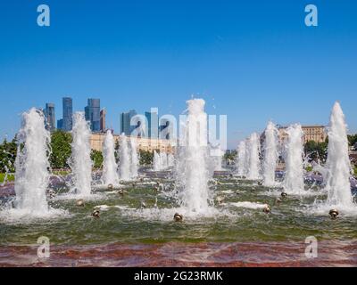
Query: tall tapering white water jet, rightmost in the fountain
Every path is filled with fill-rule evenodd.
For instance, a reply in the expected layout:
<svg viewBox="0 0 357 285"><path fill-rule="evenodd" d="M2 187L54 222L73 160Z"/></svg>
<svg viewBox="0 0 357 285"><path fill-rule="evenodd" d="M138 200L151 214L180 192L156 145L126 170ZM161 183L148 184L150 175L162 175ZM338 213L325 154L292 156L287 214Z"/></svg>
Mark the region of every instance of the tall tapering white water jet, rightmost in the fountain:
<svg viewBox="0 0 357 285"><path fill-rule="evenodd" d="M326 162L328 205L336 208L352 208L351 162L348 155L347 126L345 115L338 102L335 103L328 126L328 159Z"/></svg>

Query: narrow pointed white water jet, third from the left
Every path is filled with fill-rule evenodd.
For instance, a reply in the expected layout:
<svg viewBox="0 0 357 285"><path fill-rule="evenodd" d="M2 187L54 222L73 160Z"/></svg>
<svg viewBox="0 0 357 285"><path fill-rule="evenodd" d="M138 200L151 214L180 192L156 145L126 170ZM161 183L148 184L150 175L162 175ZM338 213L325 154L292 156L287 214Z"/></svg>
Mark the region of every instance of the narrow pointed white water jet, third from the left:
<svg viewBox="0 0 357 285"><path fill-rule="evenodd" d="M108 130L105 134L103 155L103 182L106 185L117 185L119 183L118 164L115 159L115 142L111 130Z"/></svg>

